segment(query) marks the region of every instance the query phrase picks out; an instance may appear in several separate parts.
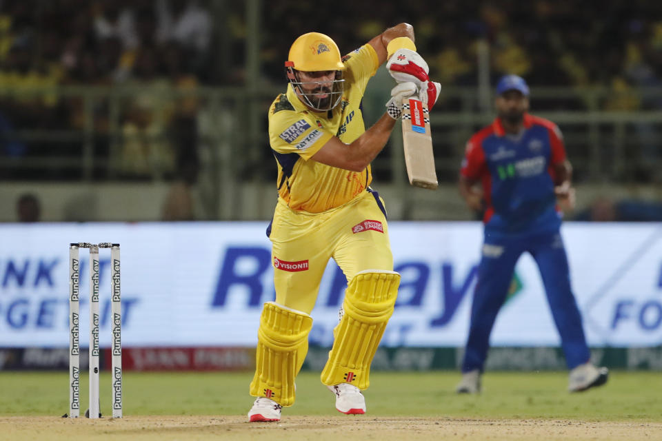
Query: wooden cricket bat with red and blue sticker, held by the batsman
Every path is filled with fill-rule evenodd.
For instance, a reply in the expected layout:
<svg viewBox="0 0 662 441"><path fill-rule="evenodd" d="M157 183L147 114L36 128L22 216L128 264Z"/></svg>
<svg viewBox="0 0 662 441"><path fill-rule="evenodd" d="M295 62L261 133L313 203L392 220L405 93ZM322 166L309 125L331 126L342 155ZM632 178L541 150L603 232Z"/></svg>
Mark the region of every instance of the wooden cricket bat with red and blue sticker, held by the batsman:
<svg viewBox="0 0 662 441"><path fill-rule="evenodd" d="M430 112L428 106L419 99L403 100L402 141L409 183L415 187L437 189Z"/></svg>

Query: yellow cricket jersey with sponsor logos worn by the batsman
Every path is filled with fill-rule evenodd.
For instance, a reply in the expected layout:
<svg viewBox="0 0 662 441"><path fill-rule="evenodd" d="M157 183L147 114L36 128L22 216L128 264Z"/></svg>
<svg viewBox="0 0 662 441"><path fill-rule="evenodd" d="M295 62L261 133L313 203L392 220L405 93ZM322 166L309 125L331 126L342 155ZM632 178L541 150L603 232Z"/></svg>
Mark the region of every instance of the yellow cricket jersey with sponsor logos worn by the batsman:
<svg viewBox="0 0 662 441"><path fill-rule="evenodd" d="M379 68L377 52L366 44L343 61L343 97L332 111L310 110L292 85L269 110L269 141L278 163L279 198L295 211L320 213L339 207L372 181L370 165L357 173L308 161L332 136L349 144L365 132L361 99L368 80Z"/></svg>

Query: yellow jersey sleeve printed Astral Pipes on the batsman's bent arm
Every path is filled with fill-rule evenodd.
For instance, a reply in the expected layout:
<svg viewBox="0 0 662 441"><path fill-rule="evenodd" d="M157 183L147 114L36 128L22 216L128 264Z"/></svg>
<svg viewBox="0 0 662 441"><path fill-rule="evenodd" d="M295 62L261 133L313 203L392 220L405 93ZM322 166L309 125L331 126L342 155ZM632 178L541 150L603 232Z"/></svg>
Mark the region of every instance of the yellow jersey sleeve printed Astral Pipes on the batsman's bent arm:
<svg viewBox="0 0 662 441"><path fill-rule="evenodd" d="M269 141L278 153L297 153L305 161L316 154L333 134L318 127L312 115L296 112L293 108L277 109L288 105L287 97L281 95L274 101L269 118ZM276 106L276 107L274 107Z"/></svg>

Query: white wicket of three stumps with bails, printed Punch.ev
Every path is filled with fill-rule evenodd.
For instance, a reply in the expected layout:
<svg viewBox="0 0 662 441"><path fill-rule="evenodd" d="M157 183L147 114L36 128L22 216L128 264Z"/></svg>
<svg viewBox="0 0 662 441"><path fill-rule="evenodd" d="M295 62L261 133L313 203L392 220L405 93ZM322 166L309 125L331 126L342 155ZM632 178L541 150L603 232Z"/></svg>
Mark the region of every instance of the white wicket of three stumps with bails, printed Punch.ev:
<svg viewBox="0 0 662 441"><path fill-rule="evenodd" d="M122 345L119 243L72 243L69 247L69 416L80 416L79 248L90 249L90 407L89 418L99 418L99 248L110 248L112 331L112 418L122 418Z"/></svg>

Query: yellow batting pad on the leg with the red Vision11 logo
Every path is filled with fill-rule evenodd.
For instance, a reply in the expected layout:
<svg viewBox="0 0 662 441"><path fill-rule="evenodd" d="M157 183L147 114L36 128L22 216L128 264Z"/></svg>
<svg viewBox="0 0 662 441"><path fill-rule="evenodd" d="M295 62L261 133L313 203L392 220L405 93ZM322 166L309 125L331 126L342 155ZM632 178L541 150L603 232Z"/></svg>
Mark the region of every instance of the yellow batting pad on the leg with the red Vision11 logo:
<svg viewBox="0 0 662 441"><path fill-rule="evenodd" d="M257 333L255 376L250 394L294 404L294 378L308 351L312 317L274 302L264 304Z"/></svg>

